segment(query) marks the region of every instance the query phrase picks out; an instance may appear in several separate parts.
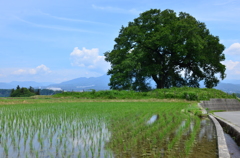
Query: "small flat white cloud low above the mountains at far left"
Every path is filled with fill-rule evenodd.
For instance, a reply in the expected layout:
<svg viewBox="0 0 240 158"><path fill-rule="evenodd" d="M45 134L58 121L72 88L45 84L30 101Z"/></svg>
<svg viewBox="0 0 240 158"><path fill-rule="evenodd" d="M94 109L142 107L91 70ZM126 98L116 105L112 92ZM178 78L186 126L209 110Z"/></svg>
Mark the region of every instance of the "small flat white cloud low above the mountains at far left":
<svg viewBox="0 0 240 158"><path fill-rule="evenodd" d="M39 65L36 68L18 69L12 72L13 75L35 75L48 74L51 70L45 65Z"/></svg>

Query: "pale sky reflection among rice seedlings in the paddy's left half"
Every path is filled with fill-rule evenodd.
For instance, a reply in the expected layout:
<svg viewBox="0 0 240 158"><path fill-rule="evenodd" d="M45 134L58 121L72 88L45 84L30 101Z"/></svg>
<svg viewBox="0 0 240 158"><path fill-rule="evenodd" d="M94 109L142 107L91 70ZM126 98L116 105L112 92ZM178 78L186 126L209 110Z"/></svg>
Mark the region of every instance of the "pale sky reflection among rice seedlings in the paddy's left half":
<svg viewBox="0 0 240 158"><path fill-rule="evenodd" d="M16 122L13 120L13 124ZM48 126L49 122L40 120L40 127L48 128L21 124L19 130L2 132L1 157L113 157L113 153L105 149L111 133L104 119L89 117L58 123Z"/></svg>

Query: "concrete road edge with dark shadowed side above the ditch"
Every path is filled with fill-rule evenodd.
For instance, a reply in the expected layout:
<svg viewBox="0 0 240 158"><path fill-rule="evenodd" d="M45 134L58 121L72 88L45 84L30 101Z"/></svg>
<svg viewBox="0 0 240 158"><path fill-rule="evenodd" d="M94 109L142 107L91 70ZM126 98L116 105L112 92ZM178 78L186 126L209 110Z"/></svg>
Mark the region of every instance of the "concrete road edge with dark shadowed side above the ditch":
<svg viewBox="0 0 240 158"><path fill-rule="evenodd" d="M240 127L220 118L219 116L216 116L216 115L213 115L213 116L218 120L218 122L221 124L222 127L226 128L226 130L228 130L227 133L229 133L231 136L235 137L235 142L238 145L240 145Z"/></svg>

